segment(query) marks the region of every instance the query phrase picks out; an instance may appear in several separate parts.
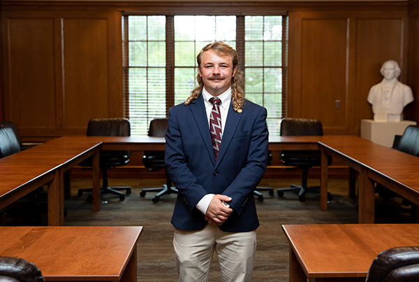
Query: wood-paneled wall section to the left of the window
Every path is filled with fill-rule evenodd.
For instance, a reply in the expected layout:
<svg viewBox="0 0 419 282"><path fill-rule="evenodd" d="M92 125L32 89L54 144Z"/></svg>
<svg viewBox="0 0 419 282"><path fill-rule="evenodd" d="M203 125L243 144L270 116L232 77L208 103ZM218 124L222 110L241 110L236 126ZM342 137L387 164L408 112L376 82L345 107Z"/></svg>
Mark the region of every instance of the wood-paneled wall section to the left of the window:
<svg viewBox="0 0 419 282"><path fill-rule="evenodd" d="M85 134L90 118L122 116L118 14L3 10L4 119L23 138Z"/></svg>

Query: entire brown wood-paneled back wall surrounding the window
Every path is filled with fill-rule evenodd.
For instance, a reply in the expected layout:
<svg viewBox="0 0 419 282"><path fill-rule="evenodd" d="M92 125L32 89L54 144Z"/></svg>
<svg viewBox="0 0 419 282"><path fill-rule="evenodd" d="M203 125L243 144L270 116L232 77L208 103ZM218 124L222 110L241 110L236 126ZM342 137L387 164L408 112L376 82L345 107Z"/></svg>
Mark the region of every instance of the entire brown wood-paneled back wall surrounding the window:
<svg viewBox="0 0 419 282"><path fill-rule="evenodd" d="M25 140L84 134L121 116L123 10L139 13L288 11L287 115L318 118L325 134L360 134L369 88L395 59L418 97L419 8L409 2L1 2L4 120ZM340 107L337 104L340 103ZM419 101L405 119L419 122Z"/></svg>

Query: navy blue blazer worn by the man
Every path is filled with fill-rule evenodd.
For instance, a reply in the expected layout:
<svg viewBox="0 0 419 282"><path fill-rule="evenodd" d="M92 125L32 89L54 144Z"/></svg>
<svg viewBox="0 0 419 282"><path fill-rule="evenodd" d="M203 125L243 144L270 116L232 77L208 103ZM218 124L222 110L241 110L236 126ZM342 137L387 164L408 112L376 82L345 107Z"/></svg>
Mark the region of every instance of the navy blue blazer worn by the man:
<svg viewBox="0 0 419 282"><path fill-rule="evenodd" d="M233 213L220 228L249 232L259 226L253 190L266 171L268 130L266 108L245 100L242 112L230 104L217 161L203 95L189 105L169 109L166 167L179 190L171 223L180 230L207 224L196 204L209 193L227 195Z"/></svg>

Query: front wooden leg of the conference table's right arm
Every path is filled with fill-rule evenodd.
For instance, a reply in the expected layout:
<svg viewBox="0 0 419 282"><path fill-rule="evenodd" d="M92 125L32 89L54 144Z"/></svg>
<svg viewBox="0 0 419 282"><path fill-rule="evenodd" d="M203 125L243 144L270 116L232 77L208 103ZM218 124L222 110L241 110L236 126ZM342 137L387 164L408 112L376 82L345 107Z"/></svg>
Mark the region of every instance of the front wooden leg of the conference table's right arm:
<svg viewBox="0 0 419 282"><path fill-rule="evenodd" d="M358 223L374 223L374 181L368 177L365 167L360 169L358 183Z"/></svg>

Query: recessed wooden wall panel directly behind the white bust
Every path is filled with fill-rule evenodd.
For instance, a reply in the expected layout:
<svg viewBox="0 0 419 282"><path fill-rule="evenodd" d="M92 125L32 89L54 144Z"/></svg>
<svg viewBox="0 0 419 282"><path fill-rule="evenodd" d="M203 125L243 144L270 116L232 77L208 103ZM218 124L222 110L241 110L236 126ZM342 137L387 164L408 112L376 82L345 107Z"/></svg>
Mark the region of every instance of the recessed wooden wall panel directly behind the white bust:
<svg viewBox="0 0 419 282"><path fill-rule="evenodd" d="M401 18L358 19L356 45L356 92L358 97L355 115L360 119L373 118L372 106L367 102L369 89L383 80L380 69L383 62L394 59L403 68L403 21ZM406 73L399 76L406 80ZM360 127L360 124L356 126Z"/></svg>

